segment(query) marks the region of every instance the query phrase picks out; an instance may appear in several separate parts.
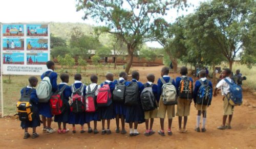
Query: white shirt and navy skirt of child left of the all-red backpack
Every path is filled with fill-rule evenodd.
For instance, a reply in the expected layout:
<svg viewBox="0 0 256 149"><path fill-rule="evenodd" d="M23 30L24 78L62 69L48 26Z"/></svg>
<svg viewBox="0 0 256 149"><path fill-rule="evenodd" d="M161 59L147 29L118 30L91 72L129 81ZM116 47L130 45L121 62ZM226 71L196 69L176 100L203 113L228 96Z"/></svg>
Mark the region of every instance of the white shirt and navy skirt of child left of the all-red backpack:
<svg viewBox="0 0 256 149"><path fill-rule="evenodd" d="M89 86L90 86L91 90L93 90L96 87L96 85L97 85L96 83L92 83ZM98 89L99 89L99 87L100 86L98 85ZM87 86L86 90L88 91L88 86ZM98 91L97 90L95 91L95 95L96 95L96 98L97 98L97 95L98 95ZM98 110L96 110L95 112L86 112L86 114L85 114L85 122L89 123L90 121L93 121L93 120L100 121L99 116L98 116Z"/></svg>

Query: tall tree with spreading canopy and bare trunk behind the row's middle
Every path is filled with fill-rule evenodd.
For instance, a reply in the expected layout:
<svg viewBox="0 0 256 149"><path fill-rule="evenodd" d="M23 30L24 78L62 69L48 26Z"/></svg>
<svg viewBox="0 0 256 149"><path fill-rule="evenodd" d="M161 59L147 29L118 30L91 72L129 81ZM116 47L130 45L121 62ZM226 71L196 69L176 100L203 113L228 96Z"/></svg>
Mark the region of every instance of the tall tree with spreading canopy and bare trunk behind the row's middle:
<svg viewBox="0 0 256 149"><path fill-rule="evenodd" d="M83 1L78 0L77 10L84 11L83 19L91 17L102 21L104 32L118 35L127 46L129 60L125 71L128 73L138 45L150 40L154 31L154 20L161 18L170 7L183 7L185 0L176 1Z"/></svg>

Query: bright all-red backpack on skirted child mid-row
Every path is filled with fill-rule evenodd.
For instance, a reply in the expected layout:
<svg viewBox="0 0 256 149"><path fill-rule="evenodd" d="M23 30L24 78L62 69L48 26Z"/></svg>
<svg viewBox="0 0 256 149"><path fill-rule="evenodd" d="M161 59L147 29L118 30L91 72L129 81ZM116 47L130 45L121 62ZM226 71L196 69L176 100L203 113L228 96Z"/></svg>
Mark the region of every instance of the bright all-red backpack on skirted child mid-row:
<svg viewBox="0 0 256 149"><path fill-rule="evenodd" d="M104 84L103 86L100 87L99 93L97 95L97 106L107 107L111 103L112 103L112 100L111 100L111 92L110 92L110 83Z"/></svg>

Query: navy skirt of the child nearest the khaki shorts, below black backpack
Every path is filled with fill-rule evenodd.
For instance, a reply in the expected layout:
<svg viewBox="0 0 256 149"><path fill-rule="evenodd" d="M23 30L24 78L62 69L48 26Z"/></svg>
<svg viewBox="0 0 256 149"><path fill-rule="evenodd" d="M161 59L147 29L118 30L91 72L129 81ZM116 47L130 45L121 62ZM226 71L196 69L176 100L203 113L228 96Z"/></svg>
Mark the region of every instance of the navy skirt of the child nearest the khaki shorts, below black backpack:
<svg viewBox="0 0 256 149"><path fill-rule="evenodd" d="M141 105L126 106L125 122L145 122L144 111Z"/></svg>

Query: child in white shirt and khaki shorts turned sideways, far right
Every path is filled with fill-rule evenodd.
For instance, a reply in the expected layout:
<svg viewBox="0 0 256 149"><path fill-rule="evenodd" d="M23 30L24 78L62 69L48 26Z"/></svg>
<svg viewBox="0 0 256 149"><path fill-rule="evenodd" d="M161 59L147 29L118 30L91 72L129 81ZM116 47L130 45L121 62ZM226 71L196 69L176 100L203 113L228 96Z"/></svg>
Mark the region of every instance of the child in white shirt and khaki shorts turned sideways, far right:
<svg viewBox="0 0 256 149"><path fill-rule="evenodd" d="M223 95L223 118L222 118L222 125L219 126L217 129L225 130L225 129L231 129L231 120L233 116L234 106L231 106L228 103L228 97L229 97L229 84L225 81L227 79L229 82L231 82L231 79L229 78L231 74L231 70L229 68L224 68L222 71L222 79L215 88L214 96L217 96L217 90L221 89L221 94ZM226 120L228 116L228 125L226 126Z"/></svg>

